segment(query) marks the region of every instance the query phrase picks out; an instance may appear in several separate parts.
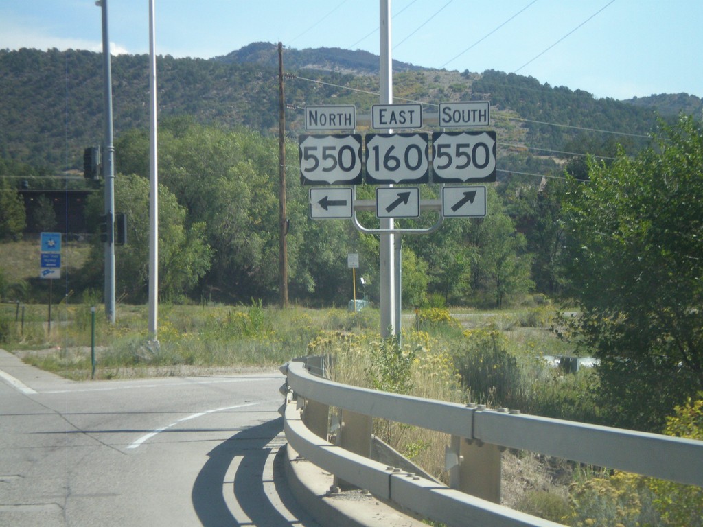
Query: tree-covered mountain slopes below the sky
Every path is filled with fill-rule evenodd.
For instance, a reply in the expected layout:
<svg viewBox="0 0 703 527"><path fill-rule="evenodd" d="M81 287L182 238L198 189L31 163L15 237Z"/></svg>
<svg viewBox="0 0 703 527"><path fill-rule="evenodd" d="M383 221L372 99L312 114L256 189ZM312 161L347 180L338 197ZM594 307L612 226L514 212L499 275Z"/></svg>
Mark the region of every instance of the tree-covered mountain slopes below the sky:
<svg viewBox="0 0 703 527"><path fill-rule="evenodd" d="M243 125L275 134L277 58L276 45L266 43L212 60L160 57L160 116L189 115L202 124ZM292 107L286 110L286 124L292 137L302 130L299 108L306 104L347 103L368 112L378 102L373 95L378 90L378 58L370 53L286 49L284 63L286 72L297 76L285 86ZM98 145L103 136L102 67L101 53L0 50L0 171L52 174L82 167L83 149ZM504 168L524 152L554 157L550 150L602 150L610 149L610 143L636 149L655 126L655 108L662 108L664 115L682 109L700 116L700 100L693 96L624 103L493 70L460 74L402 63L394 68L396 102L421 100L427 103L425 112L435 111L440 102L490 100L501 148L513 153L499 158ZM116 138L148 126L148 70L148 56L112 57ZM119 162L117 157L118 170Z"/></svg>

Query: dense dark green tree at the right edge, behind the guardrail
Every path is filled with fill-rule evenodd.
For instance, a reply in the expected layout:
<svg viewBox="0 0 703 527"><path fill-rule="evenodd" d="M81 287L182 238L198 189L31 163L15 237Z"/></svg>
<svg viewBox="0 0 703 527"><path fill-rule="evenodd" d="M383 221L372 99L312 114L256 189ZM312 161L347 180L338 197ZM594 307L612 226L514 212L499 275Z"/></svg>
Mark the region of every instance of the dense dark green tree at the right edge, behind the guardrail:
<svg viewBox="0 0 703 527"><path fill-rule="evenodd" d="M564 225L574 331L601 359L614 424L659 430L703 388L703 125L572 180Z"/></svg>

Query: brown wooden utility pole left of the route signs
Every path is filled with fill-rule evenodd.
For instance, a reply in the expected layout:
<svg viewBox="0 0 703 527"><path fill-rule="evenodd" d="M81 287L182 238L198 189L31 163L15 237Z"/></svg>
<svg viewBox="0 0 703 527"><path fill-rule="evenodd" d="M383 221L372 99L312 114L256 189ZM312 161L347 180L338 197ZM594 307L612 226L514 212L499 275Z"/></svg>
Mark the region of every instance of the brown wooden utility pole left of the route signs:
<svg viewBox="0 0 703 527"><path fill-rule="evenodd" d="M288 307L288 219L285 212L285 93L283 91L283 44L278 42L278 262L280 308Z"/></svg>

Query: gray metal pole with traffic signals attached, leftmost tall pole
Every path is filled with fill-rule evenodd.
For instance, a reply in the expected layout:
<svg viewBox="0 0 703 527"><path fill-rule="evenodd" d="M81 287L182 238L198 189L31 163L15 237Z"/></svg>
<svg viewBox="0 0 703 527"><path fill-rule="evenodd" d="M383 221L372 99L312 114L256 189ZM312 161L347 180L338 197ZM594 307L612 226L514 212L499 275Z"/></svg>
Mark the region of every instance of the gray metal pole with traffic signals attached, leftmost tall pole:
<svg viewBox="0 0 703 527"><path fill-rule="evenodd" d="M105 242L105 315L115 323L115 146L112 144L112 71L110 67L110 38L108 37L108 0L98 0L103 12L103 77L105 84L105 148L103 178L105 179L105 218L108 241Z"/></svg>

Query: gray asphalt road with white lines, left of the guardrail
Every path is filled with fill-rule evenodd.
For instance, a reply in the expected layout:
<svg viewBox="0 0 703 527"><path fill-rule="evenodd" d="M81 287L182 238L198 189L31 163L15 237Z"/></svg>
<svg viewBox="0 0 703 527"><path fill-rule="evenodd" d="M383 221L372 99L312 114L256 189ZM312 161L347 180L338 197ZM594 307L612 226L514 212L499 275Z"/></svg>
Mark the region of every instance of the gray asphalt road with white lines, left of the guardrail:
<svg viewBox="0 0 703 527"><path fill-rule="evenodd" d="M0 526L312 527L283 375L71 382L0 350Z"/></svg>

